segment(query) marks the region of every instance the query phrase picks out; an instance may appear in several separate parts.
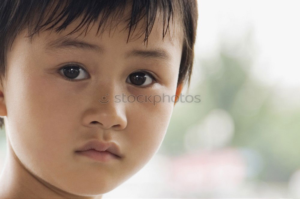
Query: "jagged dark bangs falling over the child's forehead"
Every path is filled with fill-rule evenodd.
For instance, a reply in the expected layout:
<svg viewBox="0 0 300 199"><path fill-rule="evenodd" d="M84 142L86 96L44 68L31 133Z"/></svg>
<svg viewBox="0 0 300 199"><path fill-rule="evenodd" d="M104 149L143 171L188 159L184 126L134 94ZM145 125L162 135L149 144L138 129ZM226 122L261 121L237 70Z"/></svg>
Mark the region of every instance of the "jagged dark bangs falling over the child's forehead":
<svg viewBox="0 0 300 199"><path fill-rule="evenodd" d="M9 0L6 3L9 4ZM11 14L10 20L17 20L21 29L28 27L30 41L43 28L46 28L45 30L54 29L58 33L76 19L81 19L81 21L68 35L81 30L84 26L80 34L84 32L86 34L89 25L91 23L94 25L96 21L99 21L97 34L100 29L100 33L103 33L107 28L111 30L114 25L123 22L126 24L125 29L128 29L127 42L137 28L137 24L144 20L143 27L140 29L140 37L145 34L143 42L148 45L148 37L157 13L163 17L163 39L167 31L170 34L171 18L174 23L175 6L173 4L174 1L172 0L19 0L16 1L14 6L16 9ZM131 12L124 14L126 7L131 7L129 9ZM15 13L20 11L23 12L22 19L15 19ZM120 20L120 16L124 16L124 19Z"/></svg>

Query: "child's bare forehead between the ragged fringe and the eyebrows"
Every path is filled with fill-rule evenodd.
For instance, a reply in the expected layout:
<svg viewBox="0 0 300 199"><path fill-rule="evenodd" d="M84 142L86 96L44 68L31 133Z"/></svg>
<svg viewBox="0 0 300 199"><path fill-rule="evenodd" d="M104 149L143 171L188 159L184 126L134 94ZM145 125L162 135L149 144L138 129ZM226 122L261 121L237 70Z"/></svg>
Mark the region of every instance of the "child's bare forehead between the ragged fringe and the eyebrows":
<svg viewBox="0 0 300 199"><path fill-rule="evenodd" d="M48 52L56 51L58 48L74 47L103 53L108 46L118 46L122 49L121 47L126 45L127 48L139 46L144 49L152 49L157 56L166 58L168 56L166 50L182 49L182 26L178 19L172 18L170 23L166 25L163 13L158 10L153 27L146 27L146 24L149 22L142 18L135 27L129 28L125 19L128 19L127 16L130 14L131 10L127 6L123 15L119 16L119 18L107 19L106 22L109 23L102 25L102 29L100 29L99 25L99 23L103 22L100 16L94 23L88 23L86 26L78 28L84 21L82 15L59 32L53 31L55 27L47 30L47 27L52 25L49 24L47 27L44 27L45 31L40 30L38 33L33 34L29 40L32 44L42 45ZM63 20L61 20L56 27L63 23ZM146 39L145 31L147 29L149 35L147 35Z"/></svg>

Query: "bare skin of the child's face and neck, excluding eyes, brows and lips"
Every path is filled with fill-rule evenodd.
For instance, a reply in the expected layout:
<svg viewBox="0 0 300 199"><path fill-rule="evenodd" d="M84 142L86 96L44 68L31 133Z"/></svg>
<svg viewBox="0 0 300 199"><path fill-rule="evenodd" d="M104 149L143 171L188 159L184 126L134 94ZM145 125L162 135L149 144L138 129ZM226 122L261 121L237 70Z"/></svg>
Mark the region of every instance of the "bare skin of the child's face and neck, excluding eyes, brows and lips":
<svg viewBox="0 0 300 199"><path fill-rule="evenodd" d="M0 88L0 115L7 137L0 198L102 198L148 163L164 139L174 102L155 106L150 102L117 103L112 96L179 95L180 33L167 34L162 40L163 26L158 20L146 47L144 36L126 43L128 32L123 31L122 23L113 35L105 31L101 37L96 36L95 23L86 36L79 36L81 31L72 36L103 46L102 54L76 48L45 49L79 21L61 33L40 32L32 43L22 31L8 53L7 79ZM173 28L171 25L170 30ZM124 57L128 50L158 47L170 53L170 59ZM68 62L81 64L89 77L73 82L64 79L58 69ZM140 87L126 82L137 70L155 74L155 83ZM106 94L110 102L100 103ZM116 143L123 157L104 163L75 154L94 139Z"/></svg>

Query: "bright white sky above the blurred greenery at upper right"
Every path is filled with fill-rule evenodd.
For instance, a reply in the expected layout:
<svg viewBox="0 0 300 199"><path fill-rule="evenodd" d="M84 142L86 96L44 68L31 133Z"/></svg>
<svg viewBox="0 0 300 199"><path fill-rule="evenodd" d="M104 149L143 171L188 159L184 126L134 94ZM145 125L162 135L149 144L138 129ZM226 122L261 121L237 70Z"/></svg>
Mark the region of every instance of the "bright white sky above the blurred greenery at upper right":
<svg viewBox="0 0 300 199"><path fill-rule="evenodd" d="M198 0L195 55L214 56L220 36L234 46L252 26L257 52L253 77L267 85L300 86L299 5L300 1L291 0Z"/></svg>

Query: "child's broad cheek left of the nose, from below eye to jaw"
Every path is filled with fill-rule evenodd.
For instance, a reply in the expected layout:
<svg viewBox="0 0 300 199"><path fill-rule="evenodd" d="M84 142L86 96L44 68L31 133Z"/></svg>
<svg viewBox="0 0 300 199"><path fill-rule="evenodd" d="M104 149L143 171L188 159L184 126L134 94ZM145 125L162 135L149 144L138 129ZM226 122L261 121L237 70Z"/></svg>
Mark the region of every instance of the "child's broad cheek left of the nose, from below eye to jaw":
<svg viewBox="0 0 300 199"><path fill-rule="evenodd" d="M64 89L38 75L11 78L7 89L13 149L25 166L52 182L64 175L61 168L72 171L79 100Z"/></svg>

